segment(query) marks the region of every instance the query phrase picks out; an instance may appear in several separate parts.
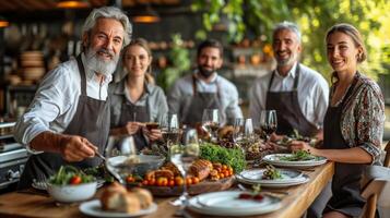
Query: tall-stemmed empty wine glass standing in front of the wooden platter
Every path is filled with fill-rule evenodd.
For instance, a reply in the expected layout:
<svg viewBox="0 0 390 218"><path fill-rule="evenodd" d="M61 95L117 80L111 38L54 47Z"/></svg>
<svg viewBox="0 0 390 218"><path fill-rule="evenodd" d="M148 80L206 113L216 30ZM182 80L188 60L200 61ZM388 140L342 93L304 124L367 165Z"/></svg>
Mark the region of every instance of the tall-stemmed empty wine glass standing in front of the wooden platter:
<svg viewBox="0 0 390 218"><path fill-rule="evenodd" d="M186 177L192 162L198 158L200 154L197 130L190 129L184 135L182 144L175 144L169 147L170 161L179 169L184 178L184 192L181 196L173 204L186 207L188 201L188 192L186 184Z"/></svg>

